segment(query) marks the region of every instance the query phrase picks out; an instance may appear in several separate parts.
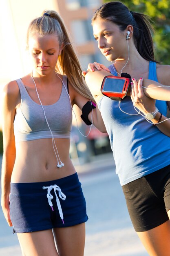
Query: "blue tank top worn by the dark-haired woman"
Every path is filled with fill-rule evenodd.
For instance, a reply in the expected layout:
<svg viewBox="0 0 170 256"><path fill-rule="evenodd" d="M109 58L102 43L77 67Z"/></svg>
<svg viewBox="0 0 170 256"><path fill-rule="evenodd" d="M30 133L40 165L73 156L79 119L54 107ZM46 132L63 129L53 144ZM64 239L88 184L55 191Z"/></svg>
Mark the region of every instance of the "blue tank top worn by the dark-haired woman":
<svg viewBox="0 0 170 256"><path fill-rule="evenodd" d="M112 65L109 69L117 76ZM156 63L150 62L148 79L157 81ZM166 101L157 100L156 106L166 116ZM164 135L157 126L148 123L141 115L123 113L119 109L119 101L105 96L99 100L98 107L110 138L121 185L170 164L170 137ZM130 96L121 101L120 108L127 113L137 114Z"/></svg>

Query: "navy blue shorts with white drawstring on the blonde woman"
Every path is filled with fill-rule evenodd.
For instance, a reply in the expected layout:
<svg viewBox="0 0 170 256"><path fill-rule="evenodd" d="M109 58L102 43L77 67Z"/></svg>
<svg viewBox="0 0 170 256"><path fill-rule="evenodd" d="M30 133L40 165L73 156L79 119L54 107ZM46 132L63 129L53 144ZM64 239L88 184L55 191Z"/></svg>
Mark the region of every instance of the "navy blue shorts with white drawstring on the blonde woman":
<svg viewBox="0 0 170 256"><path fill-rule="evenodd" d="M48 182L11 183L10 217L16 233L86 222L86 201L77 173Z"/></svg>

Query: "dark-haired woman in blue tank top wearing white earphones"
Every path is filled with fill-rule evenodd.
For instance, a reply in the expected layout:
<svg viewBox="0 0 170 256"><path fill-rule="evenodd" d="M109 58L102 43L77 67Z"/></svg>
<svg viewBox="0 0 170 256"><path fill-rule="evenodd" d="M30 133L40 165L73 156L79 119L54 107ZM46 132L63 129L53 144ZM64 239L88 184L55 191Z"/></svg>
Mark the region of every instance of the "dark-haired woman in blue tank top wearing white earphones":
<svg viewBox="0 0 170 256"><path fill-rule="evenodd" d="M155 61L148 16L108 2L92 25L100 51L112 62L111 75L132 78L131 90L117 100L101 92L110 75L103 65L90 63L83 72L110 138L130 218L150 256L169 256L170 66Z"/></svg>

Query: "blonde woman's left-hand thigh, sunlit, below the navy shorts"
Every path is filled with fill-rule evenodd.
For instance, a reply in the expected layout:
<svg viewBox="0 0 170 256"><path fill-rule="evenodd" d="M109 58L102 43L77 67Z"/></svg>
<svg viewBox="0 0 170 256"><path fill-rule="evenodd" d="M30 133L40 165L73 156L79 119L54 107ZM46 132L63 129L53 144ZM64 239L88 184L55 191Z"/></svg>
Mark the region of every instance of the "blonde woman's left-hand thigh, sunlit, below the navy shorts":
<svg viewBox="0 0 170 256"><path fill-rule="evenodd" d="M17 233L23 256L58 256L51 229Z"/></svg>

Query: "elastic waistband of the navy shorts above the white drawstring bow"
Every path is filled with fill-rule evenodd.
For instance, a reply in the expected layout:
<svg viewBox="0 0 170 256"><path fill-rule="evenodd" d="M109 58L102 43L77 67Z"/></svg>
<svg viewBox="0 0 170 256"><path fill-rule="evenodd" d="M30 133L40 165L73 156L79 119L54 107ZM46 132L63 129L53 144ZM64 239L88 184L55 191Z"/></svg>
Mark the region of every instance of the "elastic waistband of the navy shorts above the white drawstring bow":
<svg viewBox="0 0 170 256"><path fill-rule="evenodd" d="M72 187L80 186L77 173L66 176L61 179L45 181L45 182L29 182L29 183L12 183L11 194L32 194L32 193L46 193L42 189L43 186L57 185L62 190L70 189Z"/></svg>

